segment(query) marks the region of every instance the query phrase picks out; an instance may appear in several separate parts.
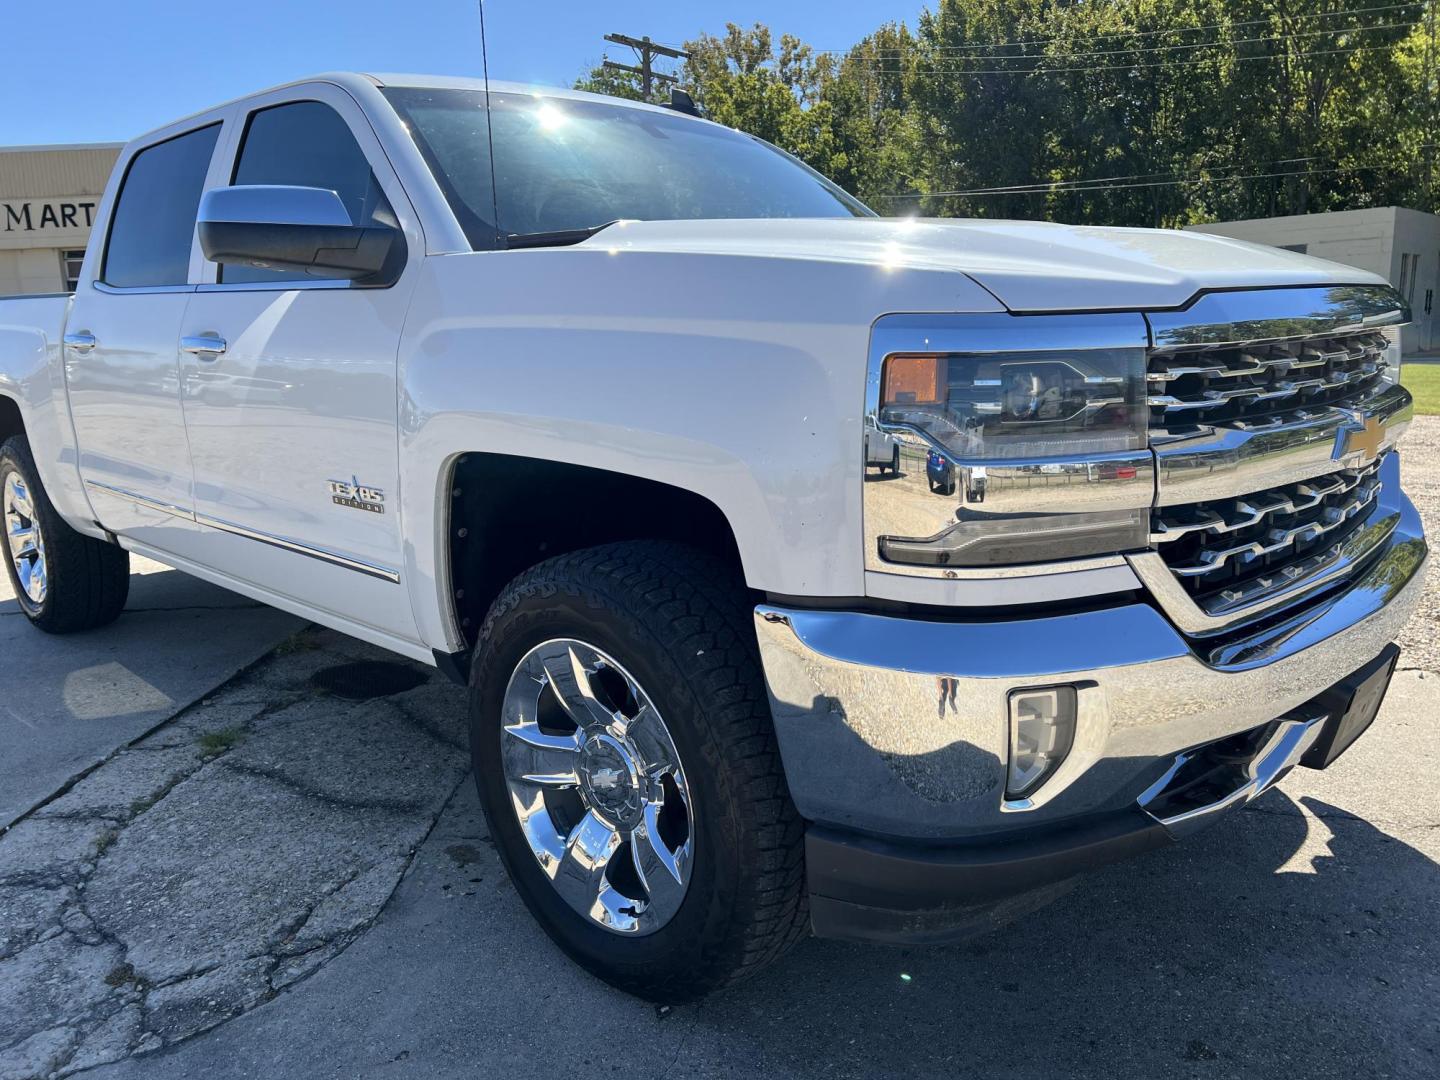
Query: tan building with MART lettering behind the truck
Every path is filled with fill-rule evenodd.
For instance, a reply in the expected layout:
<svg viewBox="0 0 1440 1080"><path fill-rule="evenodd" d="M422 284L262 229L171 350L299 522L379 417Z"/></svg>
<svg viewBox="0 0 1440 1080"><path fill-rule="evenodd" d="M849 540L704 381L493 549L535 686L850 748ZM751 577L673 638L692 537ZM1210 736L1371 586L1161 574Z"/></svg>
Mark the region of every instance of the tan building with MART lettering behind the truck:
<svg viewBox="0 0 1440 1080"><path fill-rule="evenodd" d="M75 289L120 148L0 147L0 297Z"/></svg>

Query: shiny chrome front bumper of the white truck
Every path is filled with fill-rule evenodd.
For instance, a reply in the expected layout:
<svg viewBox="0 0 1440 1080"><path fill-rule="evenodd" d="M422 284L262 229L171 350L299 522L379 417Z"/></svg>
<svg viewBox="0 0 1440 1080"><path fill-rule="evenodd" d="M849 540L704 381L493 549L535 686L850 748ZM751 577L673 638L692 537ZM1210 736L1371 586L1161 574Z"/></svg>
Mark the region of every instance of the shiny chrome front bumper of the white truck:
<svg viewBox="0 0 1440 1080"><path fill-rule="evenodd" d="M968 622L762 605L796 806L822 827L930 842L1135 809L1176 755L1292 714L1394 641L1427 549L1410 500L1395 492L1392 508L1384 550L1344 590L1223 645L1192 644L1143 602ZM1007 804L1008 694L1051 683L1079 687L1074 747L1031 799Z"/></svg>

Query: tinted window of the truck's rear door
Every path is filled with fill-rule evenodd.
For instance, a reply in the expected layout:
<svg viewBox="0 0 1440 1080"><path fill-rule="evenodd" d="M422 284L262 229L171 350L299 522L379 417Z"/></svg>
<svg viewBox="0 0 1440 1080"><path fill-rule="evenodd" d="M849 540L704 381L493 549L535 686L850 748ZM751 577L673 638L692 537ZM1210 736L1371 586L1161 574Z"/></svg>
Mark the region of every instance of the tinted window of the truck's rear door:
<svg viewBox="0 0 1440 1080"><path fill-rule="evenodd" d="M184 285L194 216L220 125L141 150L125 170L111 215L101 281L117 288Z"/></svg>

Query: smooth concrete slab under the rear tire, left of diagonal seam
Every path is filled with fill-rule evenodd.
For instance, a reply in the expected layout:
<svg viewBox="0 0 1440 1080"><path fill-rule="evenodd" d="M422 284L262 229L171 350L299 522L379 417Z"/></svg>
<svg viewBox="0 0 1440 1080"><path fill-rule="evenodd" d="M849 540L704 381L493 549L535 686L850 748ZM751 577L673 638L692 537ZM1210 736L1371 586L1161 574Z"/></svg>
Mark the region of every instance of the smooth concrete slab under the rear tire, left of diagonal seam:
<svg viewBox="0 0 1440 1080"><path fill-rule="evenodd" d="M48 638L0 573L0 829L302 625L132 556L115 624Z"/></svg>

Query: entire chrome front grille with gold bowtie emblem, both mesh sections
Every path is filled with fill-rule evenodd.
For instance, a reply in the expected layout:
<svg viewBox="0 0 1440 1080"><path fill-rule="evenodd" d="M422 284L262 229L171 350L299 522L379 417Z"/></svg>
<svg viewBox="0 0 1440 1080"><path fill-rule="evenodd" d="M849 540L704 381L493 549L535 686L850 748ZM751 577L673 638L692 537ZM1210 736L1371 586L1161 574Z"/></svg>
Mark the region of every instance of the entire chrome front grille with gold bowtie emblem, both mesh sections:
<svg viewBox="0 0 1440 1080"><path fill-rule="evenodd" d="M1155 504L1130 567L1195 638L1303 615L1403 517L1405 301L1378 284L1217 289L1145 318Z"/></svg>

